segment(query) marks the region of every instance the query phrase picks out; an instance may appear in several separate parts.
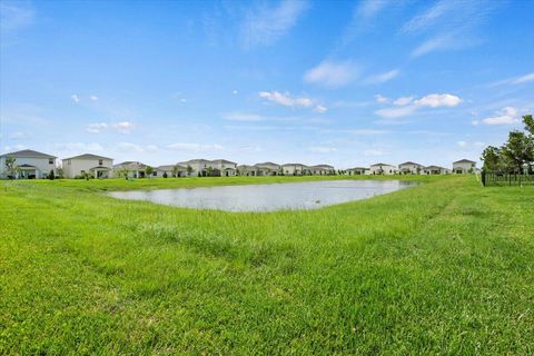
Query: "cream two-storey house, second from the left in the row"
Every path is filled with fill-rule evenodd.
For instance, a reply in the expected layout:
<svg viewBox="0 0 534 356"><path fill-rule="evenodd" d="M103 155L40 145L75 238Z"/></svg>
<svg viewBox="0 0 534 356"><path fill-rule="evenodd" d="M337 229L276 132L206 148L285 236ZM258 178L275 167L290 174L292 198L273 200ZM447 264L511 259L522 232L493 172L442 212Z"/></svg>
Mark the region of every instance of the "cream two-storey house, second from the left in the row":
<svg viewBox="0 0 534 356"><path fill-rule="evenodd" d="M95 178L111 178L113 176L113 159L91 154L85 154L62 160L65 178L76 178L88 174Z"/></svg>

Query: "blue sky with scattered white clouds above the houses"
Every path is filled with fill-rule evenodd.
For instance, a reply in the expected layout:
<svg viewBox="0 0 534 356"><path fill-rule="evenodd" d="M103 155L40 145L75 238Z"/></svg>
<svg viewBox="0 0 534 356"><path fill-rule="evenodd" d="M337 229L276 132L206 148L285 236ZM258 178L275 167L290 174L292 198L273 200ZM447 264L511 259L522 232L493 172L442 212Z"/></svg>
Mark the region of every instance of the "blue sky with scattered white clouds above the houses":
<svg viewBox="0 0 534 356"><path fill-rule="evenodd" d="M534 107L534 1L0 2L0 151L449 167Z"/></svg>

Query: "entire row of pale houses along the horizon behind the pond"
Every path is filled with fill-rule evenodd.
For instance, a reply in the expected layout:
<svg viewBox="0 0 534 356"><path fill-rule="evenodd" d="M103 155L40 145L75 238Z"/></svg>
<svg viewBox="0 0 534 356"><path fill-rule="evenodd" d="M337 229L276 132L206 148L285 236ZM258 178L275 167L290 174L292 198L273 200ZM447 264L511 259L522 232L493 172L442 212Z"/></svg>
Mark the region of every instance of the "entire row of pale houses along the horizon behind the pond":
<svg viewBox="0 0 534 356"><path fill-rule="evenodd" d="M14 162L12 161L14 159ZM13 166L13 167L10 167ZM14 169L16 168L16 169ZM0 177L8 178L46 178L50 172L61 169L65 178L93 177L231 177L231 176L307 176L307 175L445 175L467 174L476 170L476 164L472 160L462 159L453 164L453 169L438 166L422 166L415 162L404 162L399 166L387 164L372 165L369 168L356 167L338 170L329 165L307 166L303 164L277 165L261 162L254 166L237 165L226 159L191 159L174 165L150 167L139 161L125 161L113 165L109 157L85 154L65 158L59 164L56 156L38 152L34 150L21 150L0 156ZM57 174L56 174L57 175Z"/></svg>

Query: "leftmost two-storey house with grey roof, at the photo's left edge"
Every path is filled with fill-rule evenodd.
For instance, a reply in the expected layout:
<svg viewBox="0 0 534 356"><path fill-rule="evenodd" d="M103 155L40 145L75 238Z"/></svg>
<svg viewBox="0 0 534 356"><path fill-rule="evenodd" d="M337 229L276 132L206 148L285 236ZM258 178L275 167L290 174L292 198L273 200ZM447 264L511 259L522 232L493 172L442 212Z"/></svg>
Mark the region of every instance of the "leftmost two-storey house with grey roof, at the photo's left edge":
<svg viewBox="0 0 534 356"><path fill-rule="evenodd" d="M8 167L6 167L8 157L13 157L14 167L18 167L18 175L14 178L46 178L51 170L56 169L56 156L24 149L0 156L1 178L10 176Z"/></svg>

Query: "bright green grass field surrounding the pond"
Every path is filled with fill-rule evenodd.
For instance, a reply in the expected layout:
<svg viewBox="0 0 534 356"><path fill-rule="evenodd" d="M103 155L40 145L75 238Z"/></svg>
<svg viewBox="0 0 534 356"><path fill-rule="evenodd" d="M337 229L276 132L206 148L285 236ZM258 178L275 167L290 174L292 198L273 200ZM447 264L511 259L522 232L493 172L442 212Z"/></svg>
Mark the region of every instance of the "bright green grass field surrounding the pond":
<svg viewBox="0 0 534 356"><path fill-rule="evenodd" d="M415 179L277 212L101 192L291 178L2 181L0 354L533 354L534 187Z"/></svg>

